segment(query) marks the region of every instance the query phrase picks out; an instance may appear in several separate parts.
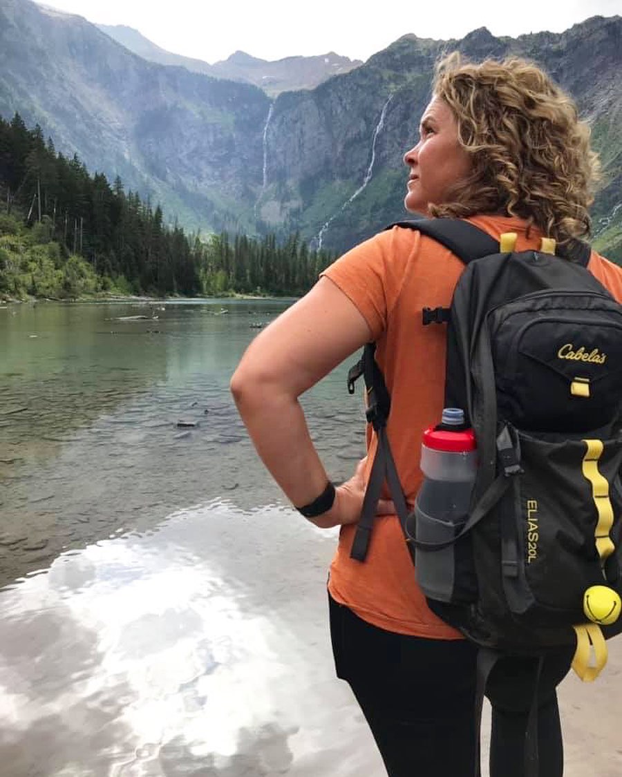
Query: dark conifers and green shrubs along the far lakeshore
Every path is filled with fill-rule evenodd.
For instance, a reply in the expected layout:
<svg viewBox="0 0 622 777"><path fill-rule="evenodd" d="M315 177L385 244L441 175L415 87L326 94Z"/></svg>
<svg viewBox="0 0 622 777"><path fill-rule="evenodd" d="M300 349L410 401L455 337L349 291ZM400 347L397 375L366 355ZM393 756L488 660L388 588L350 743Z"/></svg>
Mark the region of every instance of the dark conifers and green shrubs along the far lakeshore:
<svg viewBox="0 0 622 777"><path fill-rule="evenodd" d="M302 294L330 262L297 235L186 235L162 208L89 176L19 113L0 119L0 294Z"/></svg>

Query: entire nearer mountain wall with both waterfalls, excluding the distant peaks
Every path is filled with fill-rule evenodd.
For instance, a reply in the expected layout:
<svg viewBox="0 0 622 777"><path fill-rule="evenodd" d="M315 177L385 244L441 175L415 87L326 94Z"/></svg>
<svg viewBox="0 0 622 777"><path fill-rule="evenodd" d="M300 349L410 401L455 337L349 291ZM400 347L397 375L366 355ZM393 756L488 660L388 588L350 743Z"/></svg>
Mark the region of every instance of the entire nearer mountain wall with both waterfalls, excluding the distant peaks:
<svg viewBox="0 0 622 777"><path fill-rule="evenodd" d="M517 55L577 100L603 159L596 245L622 262L622 19L561 34L406 35L362 66L276 99L254 85L145 61L79 16L0 0L0 114L38 122L59 151L162 202L189 228L298 230L347 249L404 218L404 150L435 59ZM244 66L247 55L234 55ZM230 57L231 59L231 57ZM246 63L248 64L248 63Z"/></svg>

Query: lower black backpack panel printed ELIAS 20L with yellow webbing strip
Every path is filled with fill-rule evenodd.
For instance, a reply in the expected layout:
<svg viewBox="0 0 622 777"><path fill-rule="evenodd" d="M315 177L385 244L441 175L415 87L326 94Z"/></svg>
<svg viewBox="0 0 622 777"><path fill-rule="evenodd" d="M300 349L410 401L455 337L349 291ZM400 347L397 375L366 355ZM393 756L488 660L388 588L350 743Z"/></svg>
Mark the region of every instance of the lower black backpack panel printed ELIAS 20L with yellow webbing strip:
<svg viewBox="0 0 622 777"><path fill-rule="evenodd" d="M513 513L519 566L533 597L521 615L545 627L584 622L587 588L604 584L622 593L622 493L614 486L622 440L519 437L523 472Z"/></svg>

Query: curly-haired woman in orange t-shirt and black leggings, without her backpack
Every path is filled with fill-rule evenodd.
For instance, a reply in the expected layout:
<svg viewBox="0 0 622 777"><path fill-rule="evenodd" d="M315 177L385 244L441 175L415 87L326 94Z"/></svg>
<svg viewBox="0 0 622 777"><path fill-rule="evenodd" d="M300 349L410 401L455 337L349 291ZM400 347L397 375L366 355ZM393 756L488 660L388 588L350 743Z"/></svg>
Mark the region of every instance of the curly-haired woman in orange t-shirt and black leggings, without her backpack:
<svg viewBox="0 0 622 777"><path fill-rule="evenodd" d="M571 250L589 232L598 162L571 99L526 61L465 64L435 73L420 139L404 155L409 211L467 218L516 250L548 235ZM421 308L448 307L463 265L438 243L393 228L341 256L312 291L253 341L232 392L257 451L292 503L319 527L340 525L330 567L337 675L365 714L390 777L472 775L477 758L475 650L436 618L414 580L390 500L378 507L365 563L350 557L376 451L336 490L309 438L298 398L369 340L392 397L387 425L407 501L421 483L421 434L441 416L445 332L421 326ZM622 300L622 270L592 252L589 270ZM561 777L555 688L568 653L551 657L539 692L540 774ZM530 660L491 675L491 777L522 775Z"/></svg>

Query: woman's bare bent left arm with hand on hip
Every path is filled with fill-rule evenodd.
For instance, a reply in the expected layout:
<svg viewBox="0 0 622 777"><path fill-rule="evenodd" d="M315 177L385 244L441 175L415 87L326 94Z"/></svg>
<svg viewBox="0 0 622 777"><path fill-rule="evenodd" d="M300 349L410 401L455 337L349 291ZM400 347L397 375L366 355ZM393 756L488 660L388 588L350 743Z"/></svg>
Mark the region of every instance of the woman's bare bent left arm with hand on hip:
<svg viewBox="0 0 622 777"><path fill-rule="evenodd" d="M355 305L328 278L264 329L250 344L231 379L231 390L257 452L297 506L327 485L299 396L371 339ZM312 519L328 527L358 521L364 468L337 489L334 506ZM380 507L390 511L390 504Z"/></svg>

